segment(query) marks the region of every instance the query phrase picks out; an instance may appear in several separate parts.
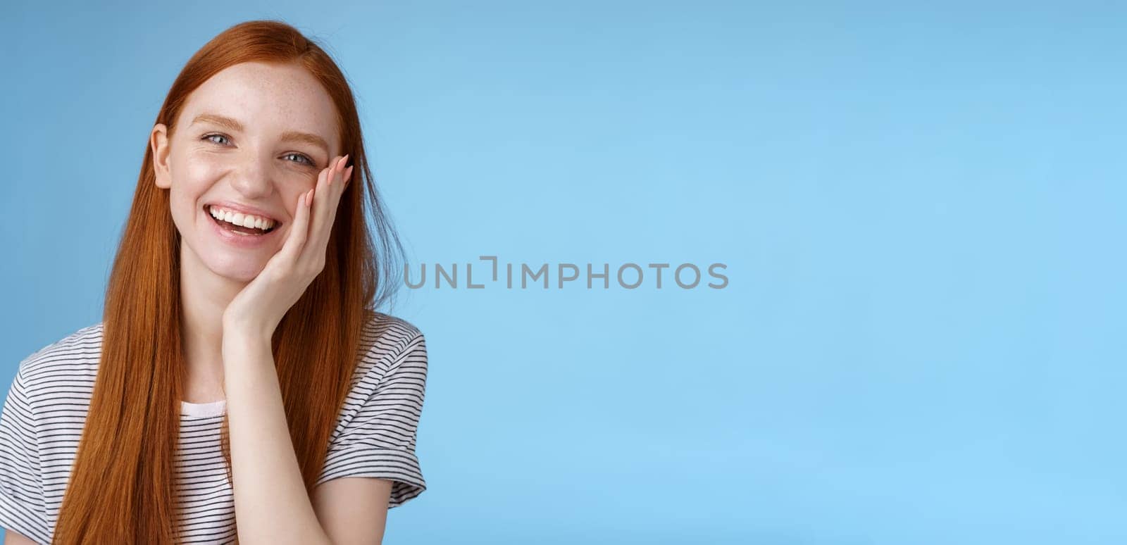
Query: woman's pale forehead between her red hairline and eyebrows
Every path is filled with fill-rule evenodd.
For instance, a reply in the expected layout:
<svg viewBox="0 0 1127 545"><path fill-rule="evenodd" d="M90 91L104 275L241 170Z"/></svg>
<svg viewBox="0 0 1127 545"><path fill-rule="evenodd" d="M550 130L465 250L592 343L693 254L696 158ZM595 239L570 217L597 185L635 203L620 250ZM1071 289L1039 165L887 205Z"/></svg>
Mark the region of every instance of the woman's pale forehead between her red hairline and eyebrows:
<svg viewBox="0 0 1127 545"><path fill-rule="evenodd" d="M336 106L321 83L301 66L258 62L228 66L192 91L180 108L177 126L203 113L238 119L248 133L317 134L339 154Z"/></svg>

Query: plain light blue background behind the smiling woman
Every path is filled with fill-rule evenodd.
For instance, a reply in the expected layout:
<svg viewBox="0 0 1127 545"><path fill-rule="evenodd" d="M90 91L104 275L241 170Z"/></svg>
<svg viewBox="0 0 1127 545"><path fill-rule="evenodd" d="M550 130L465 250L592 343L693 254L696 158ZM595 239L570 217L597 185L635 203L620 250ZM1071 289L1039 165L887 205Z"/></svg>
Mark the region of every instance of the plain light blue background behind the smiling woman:
<svg viewBox="0 0 1127 545"><path fill-rule="evenodd" d="M1127 10L331 7L8 5L5 382L100 320L184 62L282 18L353 82L414 265L727 265L403 289L428 490L385 543L1127 540Z"/></svg>

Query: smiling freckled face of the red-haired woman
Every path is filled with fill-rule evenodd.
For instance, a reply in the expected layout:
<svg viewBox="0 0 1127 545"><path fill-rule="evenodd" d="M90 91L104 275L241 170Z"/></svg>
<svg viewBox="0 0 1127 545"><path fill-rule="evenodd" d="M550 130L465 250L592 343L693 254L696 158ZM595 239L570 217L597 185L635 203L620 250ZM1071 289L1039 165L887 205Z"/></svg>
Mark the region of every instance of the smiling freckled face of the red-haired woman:
<svg viewBox="0 0 1127 545"><path fill-rule="evenodd" d="M169 189L181 270L252 280L285 243L299 196L341 154L336 116L304 69L254 62L229 66L193 91L171 139L163 124L154 126L157 187ZM275 226L237 234L212 217L212 205L220 214L224 205L256 212Z"/></svg>

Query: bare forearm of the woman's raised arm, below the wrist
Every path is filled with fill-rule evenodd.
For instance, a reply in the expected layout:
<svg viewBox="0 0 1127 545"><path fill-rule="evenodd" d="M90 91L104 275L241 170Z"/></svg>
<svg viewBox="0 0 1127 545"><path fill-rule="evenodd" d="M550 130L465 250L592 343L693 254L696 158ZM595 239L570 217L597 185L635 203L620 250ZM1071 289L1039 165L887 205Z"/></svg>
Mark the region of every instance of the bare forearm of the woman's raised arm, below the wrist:
<svg viewBox="0 0 1127 545"><path fill-rule="evenodd" d="M223 339L239 542L329 544L302 482L269 339Z"/></svg>

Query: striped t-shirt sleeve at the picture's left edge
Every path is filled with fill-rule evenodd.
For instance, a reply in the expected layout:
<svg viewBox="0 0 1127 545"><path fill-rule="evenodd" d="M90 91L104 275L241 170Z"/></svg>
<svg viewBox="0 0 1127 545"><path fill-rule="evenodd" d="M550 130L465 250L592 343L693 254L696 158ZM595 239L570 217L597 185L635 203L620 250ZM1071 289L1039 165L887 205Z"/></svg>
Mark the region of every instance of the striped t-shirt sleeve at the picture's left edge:
<svg viewBox="0 0 1127 545"><path fill-rule="evenodd" d="M39 447L27 394L20 367L0 412L0 526L47 543Z"/></svg>

